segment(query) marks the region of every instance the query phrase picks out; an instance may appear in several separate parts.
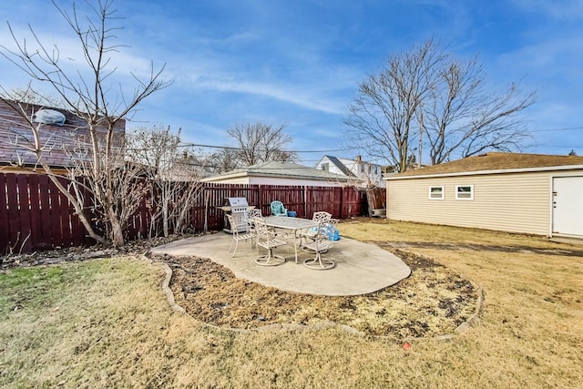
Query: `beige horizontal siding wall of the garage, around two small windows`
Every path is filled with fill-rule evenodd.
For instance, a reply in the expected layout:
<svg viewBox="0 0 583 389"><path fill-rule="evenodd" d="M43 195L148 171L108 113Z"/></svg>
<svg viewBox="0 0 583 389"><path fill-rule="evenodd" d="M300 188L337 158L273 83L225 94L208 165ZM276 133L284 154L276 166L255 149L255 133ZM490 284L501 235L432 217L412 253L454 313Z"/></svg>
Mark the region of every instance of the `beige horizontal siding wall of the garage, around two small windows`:
<svg viewBox="0 0 583 389"><path fill-rule="evenodd" d="M456 185L473 185L474 200L455 200ZM389 179L387 217L488 230L548 235L550 173ZM443 186L445 200L429 200Z"/></svg>

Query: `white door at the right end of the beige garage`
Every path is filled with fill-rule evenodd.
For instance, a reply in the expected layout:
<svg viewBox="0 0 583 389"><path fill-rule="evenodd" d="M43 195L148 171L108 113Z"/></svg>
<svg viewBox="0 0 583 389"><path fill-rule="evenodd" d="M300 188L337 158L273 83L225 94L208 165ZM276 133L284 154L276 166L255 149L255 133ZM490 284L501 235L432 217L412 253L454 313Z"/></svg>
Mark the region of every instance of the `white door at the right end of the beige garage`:
<svg viewBox="0 0 583 389"><path fill-rule="evenodd" d="M553 178L553 234L583 237L583 177Z"/></svg>

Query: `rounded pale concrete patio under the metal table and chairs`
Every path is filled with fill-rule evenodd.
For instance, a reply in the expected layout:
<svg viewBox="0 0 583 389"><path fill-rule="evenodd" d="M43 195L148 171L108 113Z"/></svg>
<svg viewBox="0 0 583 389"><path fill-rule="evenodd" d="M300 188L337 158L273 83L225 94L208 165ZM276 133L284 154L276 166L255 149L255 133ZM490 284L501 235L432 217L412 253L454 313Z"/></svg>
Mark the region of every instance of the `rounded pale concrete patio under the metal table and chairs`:
<svg viewBox="0 0 583 389"><path fill-rule="evenodd" d="M303 251L298 251L296 264L292 246L282 246L274 250L287 259L279 266L264 267L255 263L257 250L251 248L249 241L240 241L237 254L233 258L229 252L231 241L230 234L219 232L173 241L152 249L152 252L208 258L229 268L241 279L283 291L326 296L376 292L411 274L409 267L392 253L374 244L347 238L334 242L334 247L322 254L336 262L336 267L327 271L315 271L305 267L303 261L312 258L313 254Z"/></svg>

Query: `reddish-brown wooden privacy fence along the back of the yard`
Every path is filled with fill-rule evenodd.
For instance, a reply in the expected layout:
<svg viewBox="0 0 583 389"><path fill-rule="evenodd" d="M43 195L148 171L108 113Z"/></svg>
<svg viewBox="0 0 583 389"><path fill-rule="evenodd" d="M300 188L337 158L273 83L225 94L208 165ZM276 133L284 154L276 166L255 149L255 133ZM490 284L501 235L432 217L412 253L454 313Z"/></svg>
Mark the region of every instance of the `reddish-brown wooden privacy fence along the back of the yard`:
<svg viewBox="0 0 583 389"><path fill-rule="evenodd" d="M66 179L62 179L66 186ZM353 187L202 184L190 210L194 230L221 230L224 213L218 207L227 197L244 197L269 215L272 200L280 200L299 218L326 210L337 219L366 211L363 190ZM87 217L92 217L90 208ZM140 204L125 226L128 241L148 237L151 214L148 201ZM46 175L0 173L0 255L57 247L93 244L66 197Z"/></svg>

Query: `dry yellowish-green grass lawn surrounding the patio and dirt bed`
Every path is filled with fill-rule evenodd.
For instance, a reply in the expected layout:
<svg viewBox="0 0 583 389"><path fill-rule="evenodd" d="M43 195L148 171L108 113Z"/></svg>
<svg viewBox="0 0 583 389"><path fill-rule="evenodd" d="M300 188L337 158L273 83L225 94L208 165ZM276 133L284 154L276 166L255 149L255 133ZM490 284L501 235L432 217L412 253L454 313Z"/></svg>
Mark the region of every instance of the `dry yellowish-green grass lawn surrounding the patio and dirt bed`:
<svg viewBox="0 0 583 389"><path fill-rule="evenodd" d="M340 328L234 333L171 311L156 264L13 269L0 274L0 387L581 387L583 246L386 220L340 230L476 282L479 319L410 350Z"/></svg>

